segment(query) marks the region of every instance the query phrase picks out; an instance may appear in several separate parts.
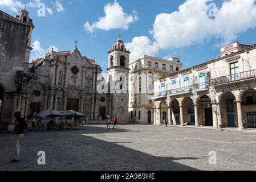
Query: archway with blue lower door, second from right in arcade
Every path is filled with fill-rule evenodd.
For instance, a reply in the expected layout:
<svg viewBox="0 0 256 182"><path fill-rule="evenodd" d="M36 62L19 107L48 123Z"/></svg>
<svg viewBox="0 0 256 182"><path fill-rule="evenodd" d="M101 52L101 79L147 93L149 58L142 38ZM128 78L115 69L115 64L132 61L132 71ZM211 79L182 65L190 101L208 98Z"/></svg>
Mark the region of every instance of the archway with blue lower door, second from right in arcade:
<svg viewBox="0 0 256 182"><path fill-rule="evenodd" d="M222 125L225 127L238 127L237 105L233 93L227 92L221 96L220 107Z"/></svg>

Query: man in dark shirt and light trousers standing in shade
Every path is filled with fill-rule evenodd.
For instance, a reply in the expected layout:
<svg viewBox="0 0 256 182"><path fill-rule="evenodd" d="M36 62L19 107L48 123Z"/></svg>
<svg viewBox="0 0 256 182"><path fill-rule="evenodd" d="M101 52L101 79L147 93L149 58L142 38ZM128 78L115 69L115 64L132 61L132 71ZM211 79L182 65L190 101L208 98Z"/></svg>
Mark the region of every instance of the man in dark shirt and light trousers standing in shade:
<svg viewBox="0 0 256 182"><path fill-rule="evenodd" d="M10 162L19 162L19 154L21 152L21 140L24 136L24 130L27 127L27 122L21 117L21 112L17 111L14 114L15 117L15 129L14 129L14 158Z"/></svg>

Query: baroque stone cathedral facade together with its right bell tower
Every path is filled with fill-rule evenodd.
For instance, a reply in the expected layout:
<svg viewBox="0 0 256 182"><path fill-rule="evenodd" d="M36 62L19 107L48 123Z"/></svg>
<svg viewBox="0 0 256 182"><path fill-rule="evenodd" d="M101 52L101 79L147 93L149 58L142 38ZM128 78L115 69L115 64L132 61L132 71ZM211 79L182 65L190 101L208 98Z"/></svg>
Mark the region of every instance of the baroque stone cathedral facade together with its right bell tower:
<svg viewBox="0 0 256 182"><path fill-rule="evenodd" d="M129 52L124 45L115 47L116 44L123 41L118 39L108 52L107 70L112 77L109 82L116 85L122 77L128 84ZM104 84L101 87L107 92L99 92L98 85L103 81L101 67L95 59L82 56L78 48L72 52L47 52L43 59L36 60L34 69L35 74L27 86L26 117L46 109L75 110L85 114L91 123L102 123L108 115L112 118L116 115L121 123L128 122L128 90L125 93L121 88L121 92L116 92L115 86L104 89L108 87Z"/></svg>

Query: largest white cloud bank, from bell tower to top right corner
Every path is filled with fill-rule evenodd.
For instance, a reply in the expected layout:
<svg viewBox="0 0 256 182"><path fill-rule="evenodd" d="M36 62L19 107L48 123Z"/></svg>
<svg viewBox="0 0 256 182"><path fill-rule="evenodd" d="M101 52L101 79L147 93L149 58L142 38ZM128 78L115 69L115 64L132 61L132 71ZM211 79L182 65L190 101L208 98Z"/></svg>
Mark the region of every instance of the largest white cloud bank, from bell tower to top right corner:
<svg viewBox="0 0 256 182"><path fill-rule="evenodd" d="M145 40L144 43L148 44L141 47L134 41L127 43L131 51L135 51L132 54L145 54L152 45L153 50L157 50L156 47L181 48L210 38L221 38L221 44L226 44L236 40L239 34L249 28L256 27L255 0L225 0L216 9L215 17L209 16L210 2L212 0L186 0L178 7L178 11L158 14L150 31L154 42ZM149 55L156 55L156 52L152 51Z"/></svg>

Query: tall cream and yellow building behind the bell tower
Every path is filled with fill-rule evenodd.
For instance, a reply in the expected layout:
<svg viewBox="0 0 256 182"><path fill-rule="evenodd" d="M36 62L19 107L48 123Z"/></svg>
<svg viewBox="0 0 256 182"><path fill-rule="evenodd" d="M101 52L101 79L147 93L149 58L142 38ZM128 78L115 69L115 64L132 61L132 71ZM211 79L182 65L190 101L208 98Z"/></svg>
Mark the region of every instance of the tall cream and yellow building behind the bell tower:
<svg viewBox="0 0 256 182"><path fill-rule="evenodd" d="M131 61L129 68L129 121L152 124L154 102L151 97L154 93L154 77L181 71L180 59L143 55Z"/></svg>

